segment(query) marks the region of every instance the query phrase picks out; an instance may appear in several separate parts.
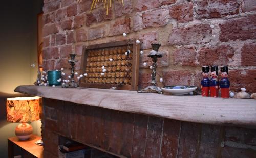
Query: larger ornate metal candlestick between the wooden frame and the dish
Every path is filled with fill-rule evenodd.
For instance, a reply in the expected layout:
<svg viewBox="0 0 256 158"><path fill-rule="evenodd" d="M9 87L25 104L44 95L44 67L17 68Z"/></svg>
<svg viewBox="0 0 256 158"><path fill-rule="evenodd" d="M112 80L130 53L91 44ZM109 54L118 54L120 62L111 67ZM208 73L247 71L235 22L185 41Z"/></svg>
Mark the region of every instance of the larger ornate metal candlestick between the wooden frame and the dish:
<svg viewBox="0 0 256 158"><path fill-rule="evenodd" d="M162 89L156 86L156 74L157 74L157 60L161 58L163 55L158 52L159 47L161 46L160 43L152 43L152 51L147 57L152 58L152 71L151 71L151 86L148 86L141 91L137 91L138 93L146 93L146 92L157 92L159 94L163 94Z"/></svg>

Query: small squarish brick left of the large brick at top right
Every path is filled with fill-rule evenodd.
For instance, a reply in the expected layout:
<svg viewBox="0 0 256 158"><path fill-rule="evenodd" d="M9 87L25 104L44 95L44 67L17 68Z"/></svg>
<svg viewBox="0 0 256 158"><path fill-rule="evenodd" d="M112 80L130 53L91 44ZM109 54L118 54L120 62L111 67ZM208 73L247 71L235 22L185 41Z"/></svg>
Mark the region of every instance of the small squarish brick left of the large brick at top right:
<svg viewBox="0 0 256 158"><path fill-rule="evenodd" d="M177 4L169 7L169 14L178 23L193 21L193 3Z"/></svg>

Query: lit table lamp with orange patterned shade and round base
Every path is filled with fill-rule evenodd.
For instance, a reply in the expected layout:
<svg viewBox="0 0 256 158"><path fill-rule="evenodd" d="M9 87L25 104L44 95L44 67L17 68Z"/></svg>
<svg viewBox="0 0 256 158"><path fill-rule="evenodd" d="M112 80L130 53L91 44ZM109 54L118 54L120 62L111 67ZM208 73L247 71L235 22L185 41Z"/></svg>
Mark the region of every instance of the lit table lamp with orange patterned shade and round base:
<svg viewBox="0 0 256 158"><path fill-rule="evenodd" d="M7 98L6 111L8 122L21 122L15 129L16 136L20 140L29 139L33 128L26 122L40 119L40 97Z"/></svg>

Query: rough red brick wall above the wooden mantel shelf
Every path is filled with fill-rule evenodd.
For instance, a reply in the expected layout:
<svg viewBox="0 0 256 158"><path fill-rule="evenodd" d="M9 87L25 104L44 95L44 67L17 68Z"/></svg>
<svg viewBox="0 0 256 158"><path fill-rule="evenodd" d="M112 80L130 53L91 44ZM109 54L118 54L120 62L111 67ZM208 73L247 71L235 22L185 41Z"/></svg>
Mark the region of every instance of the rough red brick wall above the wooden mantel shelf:
<svg viewBox="0 0 256 158"><path fill-rule="evenodd" d="M89 0L44 3L45 70L68 68L70 52L80 62L83 45L124 40L125 32L140 38L146 53L152 41L161 42L165 85L199 86L201 66L217 64L230 67L231 90L256 92L254 0L124 0L124 7L114 1L109 15L103 5L90 13ZM141 64L140 87L148 73Z"/></svg>

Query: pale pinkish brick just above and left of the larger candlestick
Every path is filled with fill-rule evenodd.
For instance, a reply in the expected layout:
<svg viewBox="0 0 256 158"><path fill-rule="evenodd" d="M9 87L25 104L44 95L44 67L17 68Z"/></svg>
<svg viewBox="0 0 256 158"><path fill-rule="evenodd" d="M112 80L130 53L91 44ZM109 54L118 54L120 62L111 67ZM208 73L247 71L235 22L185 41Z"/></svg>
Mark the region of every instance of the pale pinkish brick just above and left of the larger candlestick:
<svg viewBox="0 0 256 158"><path fill-rule="evenodd" d="M148 32L141 34L139 39L141 39L141 49L152 48L151 43L156 42L158 39L159 33L156 31Z"/></svg>

